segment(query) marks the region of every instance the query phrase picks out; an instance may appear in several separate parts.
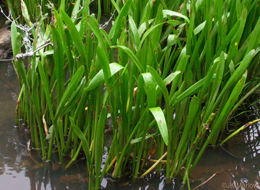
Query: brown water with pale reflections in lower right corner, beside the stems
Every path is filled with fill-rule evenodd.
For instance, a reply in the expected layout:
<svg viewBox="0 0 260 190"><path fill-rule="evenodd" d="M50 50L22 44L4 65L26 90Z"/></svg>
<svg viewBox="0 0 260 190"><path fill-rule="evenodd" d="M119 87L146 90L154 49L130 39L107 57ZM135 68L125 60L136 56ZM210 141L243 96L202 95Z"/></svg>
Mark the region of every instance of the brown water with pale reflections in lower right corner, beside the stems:
<svg viewBox="0 0 260 190"><path fill-rule="evenodd" d="M208 149L192 175L194 184L198 185L215 172L219 172L204 186L204 189L219 190L222 183L257 184L254 189L260 189L259 135L260 122L226 142L222 148L216 151ZM230 187L230 189L243 190L239 187Z"/></svg>

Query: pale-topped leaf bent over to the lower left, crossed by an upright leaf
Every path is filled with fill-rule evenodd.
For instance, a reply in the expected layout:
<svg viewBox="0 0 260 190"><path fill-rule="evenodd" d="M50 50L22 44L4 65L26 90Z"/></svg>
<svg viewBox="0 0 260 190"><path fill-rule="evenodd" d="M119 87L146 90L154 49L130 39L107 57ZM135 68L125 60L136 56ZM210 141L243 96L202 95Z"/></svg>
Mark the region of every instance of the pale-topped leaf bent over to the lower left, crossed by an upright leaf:
<svg viewBox="0 0 260 190"><path fill-rule="evenodd" d="M124 67L122 67L121 65L119 65L117 63L110 63L109 67L110 67L110 71L111 71L111 76L113 76L115 73L117 73L118 71L120 71L121 69L124 68ZM85 88L84 90L85 91L90 91L92 89L95 89L96 87L98 87L102 83L104 83L103 69L100 70L97 73L97 75L90 81L89 86L87 88Z"/></svg>

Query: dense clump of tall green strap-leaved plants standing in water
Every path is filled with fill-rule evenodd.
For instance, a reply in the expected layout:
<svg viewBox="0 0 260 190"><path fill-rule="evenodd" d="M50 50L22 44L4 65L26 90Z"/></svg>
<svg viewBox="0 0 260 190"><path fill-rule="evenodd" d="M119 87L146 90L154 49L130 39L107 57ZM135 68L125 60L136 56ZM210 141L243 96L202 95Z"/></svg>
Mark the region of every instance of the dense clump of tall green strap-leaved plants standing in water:
<svg viewBox="0 0 260 190"><path fill-rule="evenodd" d="M72 12L80 19L52 5L46 25L40 11L26 53L21 40L28 37L13 21L17 120L27 122L44 160L54 147L60 162L71 156L68 168L83 149L90 189L126 167L134 177L165 168L168 181L184 167L185 182L259 88L258 0L111 0L115 20L108 34L99 25L101 1L97 19L89 2L75 1ZM30 26L28 8L22 6L22 15ZM113 135L101 169L107 119Z"/></svg>

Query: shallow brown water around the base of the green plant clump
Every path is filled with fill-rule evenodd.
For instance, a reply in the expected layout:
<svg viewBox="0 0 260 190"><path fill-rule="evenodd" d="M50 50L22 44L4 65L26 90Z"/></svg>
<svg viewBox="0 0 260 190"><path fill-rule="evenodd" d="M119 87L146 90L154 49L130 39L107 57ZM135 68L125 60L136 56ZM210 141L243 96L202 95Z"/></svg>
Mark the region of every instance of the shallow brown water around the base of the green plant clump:
<svg viewBox="0 0 260 190"><path fill-rule="evenodd" d="M85 190L88 189L86 160L79 160L68 170L63 170L58 161L35 163L28 155L29 136L15 127L15 106L19 83L10 62L0 62L0 190ZM242 124L241 124L242 125ZM257 184L260 189L260 123L253 125L223 148L208 148L192 176L192 188L205 182L214 173L218 174L202 186L203 190L221 190L222 183L231 188L232 184ZM35 160L37 152L31 150ZM54 158L54 160L58 160ZM69 158L64 159L65 163ZM224 185L225 185L224 184ZM181 179L165 184L165 178L150 174L131 183L130 174L120 181L106 176L102 189L117 190L179 190ZM187 187L184 187L187 189ZM237 188L244 190L243 188Z"/></svg>

